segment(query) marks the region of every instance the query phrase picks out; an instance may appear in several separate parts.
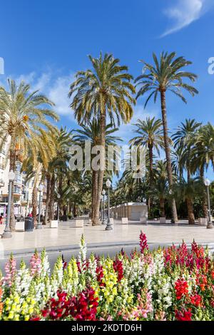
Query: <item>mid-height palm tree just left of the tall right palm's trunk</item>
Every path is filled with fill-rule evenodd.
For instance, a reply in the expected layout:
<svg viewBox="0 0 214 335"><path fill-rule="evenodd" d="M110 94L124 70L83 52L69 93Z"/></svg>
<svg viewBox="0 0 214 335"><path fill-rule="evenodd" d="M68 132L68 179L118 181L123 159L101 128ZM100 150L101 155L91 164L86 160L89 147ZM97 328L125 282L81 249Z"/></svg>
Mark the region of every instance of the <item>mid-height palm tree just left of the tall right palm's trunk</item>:
<svg viewBox="0 0 214 335"><path fill-rule="evenodd" d="M146 120L137 120L135 124L137 130L135 133L138 135L132 138L129 143L131 145L143 146L148 149L149 157L149 186L153 187L153 150L156 150L158 155L160 155L159 148L164 147L163 142L163 130L162 121L156 118L146 118ZM149 200L149 208L152 207L152 197Z"/></svg>

